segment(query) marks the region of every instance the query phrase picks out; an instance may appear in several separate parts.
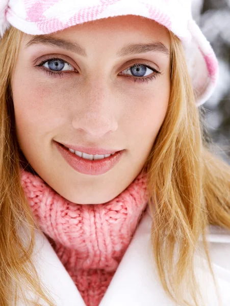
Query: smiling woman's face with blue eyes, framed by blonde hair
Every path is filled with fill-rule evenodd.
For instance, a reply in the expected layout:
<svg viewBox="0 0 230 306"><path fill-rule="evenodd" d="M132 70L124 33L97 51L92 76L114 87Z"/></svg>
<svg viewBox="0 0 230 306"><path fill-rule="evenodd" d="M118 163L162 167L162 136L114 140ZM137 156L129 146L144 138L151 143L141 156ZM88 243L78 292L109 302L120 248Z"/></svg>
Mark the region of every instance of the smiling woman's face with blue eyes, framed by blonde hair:
<svg viewBox="0 0 230 306"><path fill-rule="evenodd" d="M169 33L129 15L51 36L24 34L12 92L17 139L31 167L72 202L105 203L141 172L163 123ZM91 161L61 144L90 155L121 152Z"/></svg>

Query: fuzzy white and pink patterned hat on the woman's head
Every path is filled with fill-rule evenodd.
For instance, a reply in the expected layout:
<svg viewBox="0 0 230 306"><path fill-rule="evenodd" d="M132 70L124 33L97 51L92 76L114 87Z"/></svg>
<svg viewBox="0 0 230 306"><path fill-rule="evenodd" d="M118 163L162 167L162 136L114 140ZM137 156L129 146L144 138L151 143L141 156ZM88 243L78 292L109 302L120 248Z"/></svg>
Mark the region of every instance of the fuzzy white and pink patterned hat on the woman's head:
<svg viewBox="0 0 230 306"><path fill-rule="evenodd" d="M217 83L218 62L192 18L191 0L1 0L0 35L3 37L10 24L24 33L39 35L120 15L154 19L181 39L196 105L205 103Z"/></svg>

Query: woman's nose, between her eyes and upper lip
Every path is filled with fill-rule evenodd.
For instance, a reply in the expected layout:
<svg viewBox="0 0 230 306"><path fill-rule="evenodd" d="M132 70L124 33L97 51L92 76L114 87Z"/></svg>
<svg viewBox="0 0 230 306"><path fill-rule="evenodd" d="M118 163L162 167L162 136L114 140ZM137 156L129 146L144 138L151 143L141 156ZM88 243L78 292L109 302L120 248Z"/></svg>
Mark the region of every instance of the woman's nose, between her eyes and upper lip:
<svg viewBox="0 0 230 306"><path fill-rule="evenodd" d="M74 129L82 130L91 137L103 137L118 128L114 96L105 83L91 82L78 95Z"/></svg>

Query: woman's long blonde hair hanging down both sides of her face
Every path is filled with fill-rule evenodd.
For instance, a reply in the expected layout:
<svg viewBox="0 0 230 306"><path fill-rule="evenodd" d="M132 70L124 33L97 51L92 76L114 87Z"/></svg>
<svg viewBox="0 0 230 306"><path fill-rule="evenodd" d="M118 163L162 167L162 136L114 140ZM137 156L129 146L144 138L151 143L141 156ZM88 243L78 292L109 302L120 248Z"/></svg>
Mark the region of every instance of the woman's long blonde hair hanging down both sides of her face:
<svg viewBox="0 0 230 306"><path fill-rule="evenodd" d="M20 183L19 145L16 139L11 76L22 33L11 27L0 41L0 300L14 305L25 287L49 306L56 305L39 281L32 260L36 222ZM162 286L181 305L183 284L196 306L200 294L193 258L208 224L230 228L230 166L209 151L202 118L180 40L171 36L171 95L168 110L144 169L148 173L149 207L154 224L151 241ZM27 228L27 247L21 228ZM175 245L178 252L175 254ZM186 247L185 247L186 246ZM176 261L174 264L174 258ZM210 263L210 260L209 260ZM211 264L210 264L211 269ZM23 286L25 287L22 287ZM197 295L198 293L198 295ZM39 301L33 301L40 305Z"/></svg>

